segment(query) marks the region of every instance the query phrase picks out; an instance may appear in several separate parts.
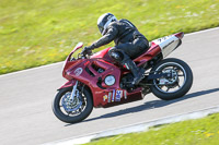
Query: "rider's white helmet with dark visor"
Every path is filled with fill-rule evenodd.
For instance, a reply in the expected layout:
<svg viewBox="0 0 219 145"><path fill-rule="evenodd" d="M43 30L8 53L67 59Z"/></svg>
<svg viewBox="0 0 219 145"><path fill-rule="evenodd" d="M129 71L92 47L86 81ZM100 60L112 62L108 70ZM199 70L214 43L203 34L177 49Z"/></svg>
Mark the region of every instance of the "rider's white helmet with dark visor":
<svg viewBox="0 0 219 145"><path fill-rule="evenodd" d="M107 26L117 19L112 13L102 14L97 20L97 26L102 35L106 33Z"/></svg>

